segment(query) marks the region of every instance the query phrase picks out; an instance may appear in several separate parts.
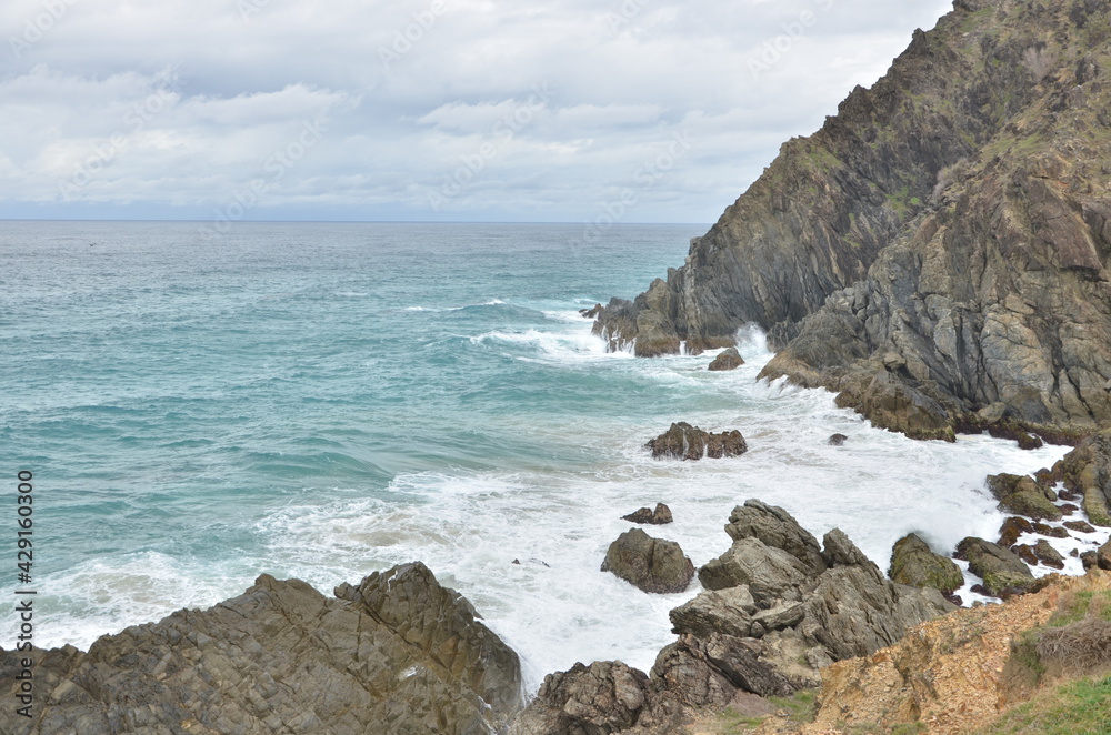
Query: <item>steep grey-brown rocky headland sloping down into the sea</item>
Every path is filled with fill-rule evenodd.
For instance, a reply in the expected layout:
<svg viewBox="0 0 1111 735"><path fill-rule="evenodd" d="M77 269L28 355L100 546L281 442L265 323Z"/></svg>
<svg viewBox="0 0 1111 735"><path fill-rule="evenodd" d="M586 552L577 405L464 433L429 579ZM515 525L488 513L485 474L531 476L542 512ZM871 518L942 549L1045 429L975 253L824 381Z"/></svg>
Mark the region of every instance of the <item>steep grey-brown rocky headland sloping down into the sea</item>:
<svg viewBox="0 0 1111 735"><path fill-rule="evenodd" d="M1111 0L957 0L595 332L780 352L920 439L1111 422Z"/></svg>

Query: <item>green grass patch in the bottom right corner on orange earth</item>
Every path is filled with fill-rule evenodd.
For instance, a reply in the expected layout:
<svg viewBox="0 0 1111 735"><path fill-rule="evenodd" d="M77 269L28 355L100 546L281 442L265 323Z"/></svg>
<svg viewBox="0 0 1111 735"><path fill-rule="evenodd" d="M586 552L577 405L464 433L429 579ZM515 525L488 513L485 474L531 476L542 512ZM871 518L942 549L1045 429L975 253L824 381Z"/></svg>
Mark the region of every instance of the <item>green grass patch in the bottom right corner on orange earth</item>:
<svg viewBox="0 0 1111 735"><path fill-rule="evenodd" d="M1111 677L1064 684L1011 709L979 735L1107 735Z"/></svg>

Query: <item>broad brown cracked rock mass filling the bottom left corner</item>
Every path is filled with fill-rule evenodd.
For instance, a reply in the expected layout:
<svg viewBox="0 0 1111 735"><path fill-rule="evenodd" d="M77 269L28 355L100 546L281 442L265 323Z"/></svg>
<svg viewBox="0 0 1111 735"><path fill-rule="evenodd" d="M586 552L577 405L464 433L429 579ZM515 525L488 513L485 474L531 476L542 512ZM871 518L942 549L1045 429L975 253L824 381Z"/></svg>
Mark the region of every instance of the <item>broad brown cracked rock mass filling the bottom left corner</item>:
<svg viewBox="0 0 1111 735"><path fill-rule="evenodd" d="M207 611L36 651L38 719L7 733L501 732L521 706L517 655L420 563L329 598L262 575ZM27 654L22 654L27 655ZM0 652L0 688L17 671Z"/></svg>

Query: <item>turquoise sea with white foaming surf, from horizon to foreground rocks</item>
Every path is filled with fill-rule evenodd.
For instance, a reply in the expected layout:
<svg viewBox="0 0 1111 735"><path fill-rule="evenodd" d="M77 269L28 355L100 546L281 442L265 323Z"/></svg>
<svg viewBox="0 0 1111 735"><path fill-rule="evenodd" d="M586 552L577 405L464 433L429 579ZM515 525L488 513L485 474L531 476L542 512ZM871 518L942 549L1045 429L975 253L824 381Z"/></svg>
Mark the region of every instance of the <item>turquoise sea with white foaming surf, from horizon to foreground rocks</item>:
<svg viewBox="0 0 1111 735"><path fill-rule="evenodd" d="M675 523L651 533L701 565L759 497L885 570L911 531L993 540L984 475L1063 455L913 442L757 382L754 330L731 373L608 354L578 310L644 290L704 231L588 245L559 224L0 223L0 483L10 500L34 473L37 643L84 648L262 573L330 594L421 560L532 688L575 661L647 669L698 585L649 595L600 572L620 516L668 503ZM644 442L674 421L740 429L750 452L653 461Z"/></svg>

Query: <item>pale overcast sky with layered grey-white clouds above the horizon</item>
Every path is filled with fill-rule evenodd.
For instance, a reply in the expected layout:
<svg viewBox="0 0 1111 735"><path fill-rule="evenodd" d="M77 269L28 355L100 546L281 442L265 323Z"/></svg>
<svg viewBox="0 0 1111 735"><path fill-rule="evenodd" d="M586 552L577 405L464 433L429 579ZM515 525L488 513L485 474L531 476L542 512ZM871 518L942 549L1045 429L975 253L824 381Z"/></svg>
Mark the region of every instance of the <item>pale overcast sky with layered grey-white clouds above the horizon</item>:
<svg viewBox="0 0 1111 735"><path fill-rule="evenodd" d="M3 0L0 218L712 222L949 0Z"/></svg>

